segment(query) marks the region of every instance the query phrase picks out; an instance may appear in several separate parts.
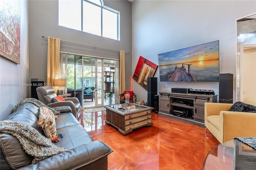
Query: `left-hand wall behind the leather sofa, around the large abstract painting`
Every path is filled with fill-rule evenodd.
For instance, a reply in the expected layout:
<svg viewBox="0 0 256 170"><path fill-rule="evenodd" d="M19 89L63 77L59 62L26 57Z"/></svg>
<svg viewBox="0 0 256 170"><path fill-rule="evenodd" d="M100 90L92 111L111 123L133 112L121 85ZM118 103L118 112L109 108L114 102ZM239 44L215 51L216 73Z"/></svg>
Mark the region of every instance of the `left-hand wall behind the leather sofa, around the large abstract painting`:
<svg viewBox="0 0 256 170"><path fill-rule="evenodd" d="M28 97L28 2L20 1L20 64L0 57L0 120L10 115L21 100ZM18 86L6 85L18 83ZM22 85L20 85L20 83Z"/></svg>

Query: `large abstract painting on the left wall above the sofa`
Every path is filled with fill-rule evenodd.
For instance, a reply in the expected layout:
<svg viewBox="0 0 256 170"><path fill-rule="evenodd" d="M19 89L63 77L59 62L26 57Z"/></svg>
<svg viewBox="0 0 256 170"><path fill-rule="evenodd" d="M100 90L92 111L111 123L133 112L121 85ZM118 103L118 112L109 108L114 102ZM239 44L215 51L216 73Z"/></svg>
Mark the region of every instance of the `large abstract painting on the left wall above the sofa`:
<svg viewBox="0 0 256 170"><path fill-rule="evenodd" d="M20 64L20 0L0 0L0 56Z"/></svg>

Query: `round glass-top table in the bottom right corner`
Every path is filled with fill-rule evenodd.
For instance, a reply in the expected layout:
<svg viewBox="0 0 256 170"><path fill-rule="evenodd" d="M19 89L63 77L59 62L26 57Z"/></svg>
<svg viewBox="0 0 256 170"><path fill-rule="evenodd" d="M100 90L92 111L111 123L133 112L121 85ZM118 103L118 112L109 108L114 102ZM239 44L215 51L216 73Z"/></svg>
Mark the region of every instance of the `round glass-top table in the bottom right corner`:
<svg viewBox="0 0 256 170"><path fill-rule="evenodd" d="M203 170L245 169L256 169L256 150L237 139L212 148L203 165Z"/></svg>

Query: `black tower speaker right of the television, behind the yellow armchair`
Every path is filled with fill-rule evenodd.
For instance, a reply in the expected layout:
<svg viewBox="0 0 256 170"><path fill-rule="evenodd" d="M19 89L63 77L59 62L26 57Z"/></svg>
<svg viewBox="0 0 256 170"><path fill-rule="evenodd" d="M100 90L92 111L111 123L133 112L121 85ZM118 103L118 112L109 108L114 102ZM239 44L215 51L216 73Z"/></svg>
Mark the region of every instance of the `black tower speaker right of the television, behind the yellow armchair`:
<svg viewBox="0 0 256 170"><path fill-rule="evenodd" d="M220 74L219 103L233 103L233 74Z"/></svg>

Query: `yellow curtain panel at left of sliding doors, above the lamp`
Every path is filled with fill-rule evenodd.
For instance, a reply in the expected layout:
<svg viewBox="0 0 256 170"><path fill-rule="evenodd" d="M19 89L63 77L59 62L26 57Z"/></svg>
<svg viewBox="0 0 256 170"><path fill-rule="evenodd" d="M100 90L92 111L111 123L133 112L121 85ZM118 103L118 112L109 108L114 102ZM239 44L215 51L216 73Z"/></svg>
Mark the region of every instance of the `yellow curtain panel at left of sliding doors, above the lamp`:
<svg viewBox="0 0 256 170"><path fill-rule="evenodd" d="M46 83L53 86L54 79L60 79L60 38L48 36Z"/></svg>

